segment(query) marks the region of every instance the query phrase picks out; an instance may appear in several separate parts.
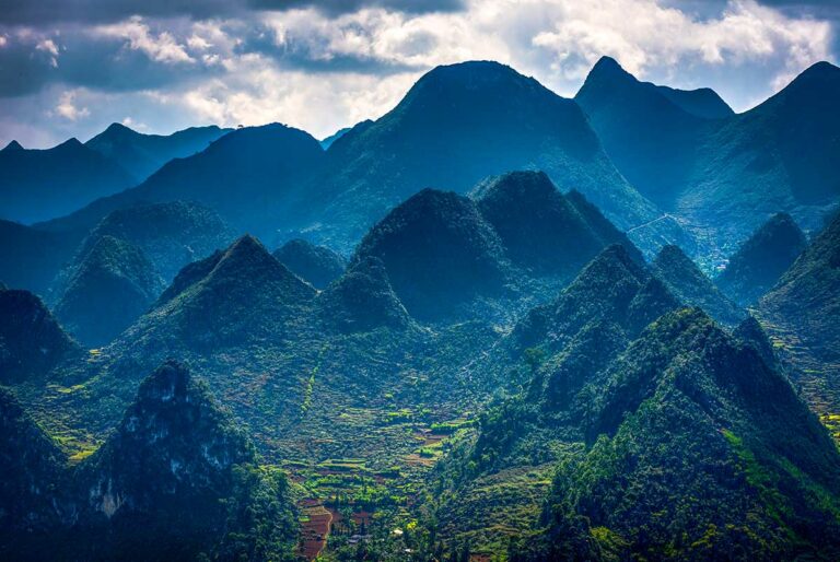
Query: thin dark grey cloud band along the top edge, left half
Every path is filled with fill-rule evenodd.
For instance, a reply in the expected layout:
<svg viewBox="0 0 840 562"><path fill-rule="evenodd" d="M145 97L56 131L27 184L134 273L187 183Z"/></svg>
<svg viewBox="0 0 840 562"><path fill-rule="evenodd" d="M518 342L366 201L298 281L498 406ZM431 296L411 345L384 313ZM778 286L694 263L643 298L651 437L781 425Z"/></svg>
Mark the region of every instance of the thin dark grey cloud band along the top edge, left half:
<svg viewBox="0 0 840 562"><path fill-rule="evenodd" d="M336 14L365 7L410 13L453 11L463 7L463 0L0 0L0 24L35 27L68 22L97 24L131 15L205 20L291 8L316 8Z"/></svg>

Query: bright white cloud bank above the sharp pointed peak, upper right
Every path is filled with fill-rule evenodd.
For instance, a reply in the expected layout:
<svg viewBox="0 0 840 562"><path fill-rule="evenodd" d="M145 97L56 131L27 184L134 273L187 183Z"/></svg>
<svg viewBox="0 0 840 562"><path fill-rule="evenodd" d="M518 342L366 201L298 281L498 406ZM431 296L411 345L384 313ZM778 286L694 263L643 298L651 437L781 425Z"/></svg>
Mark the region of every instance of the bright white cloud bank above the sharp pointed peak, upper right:
<svg viewBox="0 0 840 562"><path fill-rule="evenodd" d="M553 68L580 77L602 55L631 73L680 65L740 65L780 57L784 67L829 56L830 26L792 20L751 0L731 2L718 19L695 20L653 0L559 1L551 28L534 36Z"/></svg>

